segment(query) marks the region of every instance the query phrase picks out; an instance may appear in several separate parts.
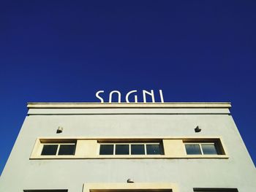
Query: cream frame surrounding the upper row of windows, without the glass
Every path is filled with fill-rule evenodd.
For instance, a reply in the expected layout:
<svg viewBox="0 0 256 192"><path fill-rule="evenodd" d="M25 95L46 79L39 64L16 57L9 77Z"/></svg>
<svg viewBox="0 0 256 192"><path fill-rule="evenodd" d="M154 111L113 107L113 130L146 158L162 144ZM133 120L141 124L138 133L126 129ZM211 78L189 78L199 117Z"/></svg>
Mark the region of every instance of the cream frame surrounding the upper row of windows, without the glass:
<svg viewBox="0 0 256 192"><path fill-rule="evenodd" d="M220 155L187 155L184 143L216 143L219 146ZM45 143L72 144L75 143L75 155L41 155ZM144 145L144 154L129 155L99 155L99 143L105 144L132 144ZM148 154L145 144L160 144L159 154ZM192 158L222 158L227 159L227 148L221 137L37 137L31 146L31 160L44 159L192 159ZM152 147L154 149L154 147ZM136 149L134 149L136 151ZM142 150L141 150L142 151ZM138 153L141 152L138 148Z"/></svg>

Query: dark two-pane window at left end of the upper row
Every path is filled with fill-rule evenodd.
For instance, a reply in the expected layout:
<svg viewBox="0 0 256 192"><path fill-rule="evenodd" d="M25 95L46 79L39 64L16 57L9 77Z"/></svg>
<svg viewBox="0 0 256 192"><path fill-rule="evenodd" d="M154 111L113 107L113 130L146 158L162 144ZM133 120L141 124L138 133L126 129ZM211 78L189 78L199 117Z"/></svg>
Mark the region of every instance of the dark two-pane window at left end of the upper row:
<svg viewBox="0 0 256 192"><path fill-rule="evenodd" d="M44 143L41 155L75 155L75 143Z"/></svg>

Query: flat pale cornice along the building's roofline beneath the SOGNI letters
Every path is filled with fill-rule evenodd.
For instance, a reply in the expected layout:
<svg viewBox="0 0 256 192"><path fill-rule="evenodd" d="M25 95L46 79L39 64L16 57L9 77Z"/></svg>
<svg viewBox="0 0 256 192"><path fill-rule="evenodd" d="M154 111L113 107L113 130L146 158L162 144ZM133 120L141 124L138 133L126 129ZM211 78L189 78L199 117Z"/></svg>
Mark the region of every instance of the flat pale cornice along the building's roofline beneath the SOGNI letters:
<svg viewBox="0 0 256 192"><path fill-rule="evenodd" d="M166 103L37 103L29 102L29 115L94 114L230 114L230 102Z"/></svg>

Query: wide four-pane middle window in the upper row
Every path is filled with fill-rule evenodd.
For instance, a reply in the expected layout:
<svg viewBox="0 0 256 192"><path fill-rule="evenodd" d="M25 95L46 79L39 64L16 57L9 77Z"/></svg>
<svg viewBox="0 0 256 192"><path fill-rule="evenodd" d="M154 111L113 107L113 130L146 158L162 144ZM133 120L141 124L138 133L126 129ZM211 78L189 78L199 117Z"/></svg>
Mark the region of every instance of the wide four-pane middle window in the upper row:
<svg viewBox="0 0 256 192"><path fill-rule="evenodd" d="M99 155L163 155L160 142L100 143Z"/></svg>

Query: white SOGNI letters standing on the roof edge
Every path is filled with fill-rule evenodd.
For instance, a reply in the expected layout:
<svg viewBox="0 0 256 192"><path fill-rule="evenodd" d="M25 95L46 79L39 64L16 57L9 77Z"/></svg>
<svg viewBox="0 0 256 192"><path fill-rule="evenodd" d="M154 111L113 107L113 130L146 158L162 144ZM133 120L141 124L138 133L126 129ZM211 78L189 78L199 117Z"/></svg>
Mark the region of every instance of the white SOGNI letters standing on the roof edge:
<svg viewBox="0 0 256 192"><path fill-rule="evenodd" d="M101 103L104 103L104 99L102 98L102 94L104 94L104 91L97 91L96 93L96 97L99 99L99 101ZM163 103L164 102L164 97L162 96L162 90L159 90L159 99L160 99L160 102ZM143 95L143 102L146 103L146 97L147 96L150 96L151 97L151 102L152 103L155 103L155 95L154 95L154 91L151 90L151 91L146 91L146 90L143 90L142 91L142 95ZM121 103L121 93L120 91L111 91L109 93L109 99L108 99L108 102L109 103L112 103L112 99L113 99L113 96L117 96L118 98L118 103ZM158 96L158 95L157 95ZM125 101L127 103L129 103L129 99L133 99L135 103L138 103L138 91L137 90L132 90L132 91L129 91L126 95L125 95Z"/></svg>

